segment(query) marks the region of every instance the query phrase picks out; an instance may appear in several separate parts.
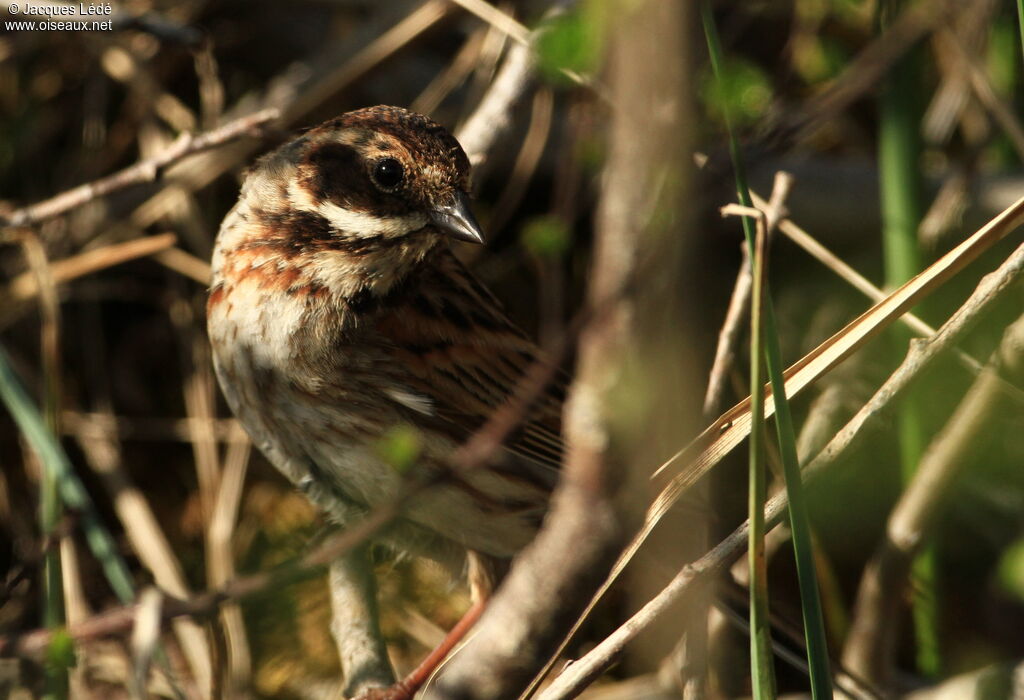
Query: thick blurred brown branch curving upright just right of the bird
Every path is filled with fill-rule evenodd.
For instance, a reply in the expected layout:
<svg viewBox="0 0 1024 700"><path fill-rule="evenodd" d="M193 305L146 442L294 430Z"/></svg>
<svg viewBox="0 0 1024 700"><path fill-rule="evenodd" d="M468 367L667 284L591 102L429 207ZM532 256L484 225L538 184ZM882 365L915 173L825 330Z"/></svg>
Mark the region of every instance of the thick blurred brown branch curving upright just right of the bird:
<svg viewBox="0 0 1024 700"><path fill-rule="evenodd" d="M564 473L541 533L426 697L509 697L529 682L618 551L626 487L643 483L639 475L630 479L631 466L654 462L658 427L680 428L678 411L666 410L662 398L685 395L677 381L685 240L678 211L688 134L684 3L608 8L617 13L608 47L615 105L588 290L595 313L580 337Z"/></svg>

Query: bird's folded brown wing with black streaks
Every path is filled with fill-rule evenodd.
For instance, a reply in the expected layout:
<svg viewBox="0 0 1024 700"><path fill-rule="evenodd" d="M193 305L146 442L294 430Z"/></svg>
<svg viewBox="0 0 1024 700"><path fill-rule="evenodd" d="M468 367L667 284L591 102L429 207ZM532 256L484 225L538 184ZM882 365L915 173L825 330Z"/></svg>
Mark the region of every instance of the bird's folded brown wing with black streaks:
<svg viewBox="0 0 1024 700"><path fill-rule="evenodd" d="M410 394L393 398L435 417L441 425L432 427L461 442L510 397L540 350L451 253L439 255L417 282L377 320L388 351L408 373ZM540 468L531 471L547 488L562 462L563 399L560 386L550 387L506 442Z"/></svg>

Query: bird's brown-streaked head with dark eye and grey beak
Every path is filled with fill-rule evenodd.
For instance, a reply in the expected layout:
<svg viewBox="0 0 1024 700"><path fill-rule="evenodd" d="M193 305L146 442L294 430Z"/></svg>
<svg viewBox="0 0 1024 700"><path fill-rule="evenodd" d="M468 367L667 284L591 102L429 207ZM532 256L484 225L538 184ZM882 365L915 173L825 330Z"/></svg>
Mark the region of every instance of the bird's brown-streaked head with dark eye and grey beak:
<svg viewBox="0 0 1024 700"><path fill-rule="evenodd" d="M417 236L483 243L469 208L469 159L443 127L399 107L349 112L278 148L253 186L359 250ZM260 174L263 177L258 177ZM262 198L261 198L262 199Z"/></svg>

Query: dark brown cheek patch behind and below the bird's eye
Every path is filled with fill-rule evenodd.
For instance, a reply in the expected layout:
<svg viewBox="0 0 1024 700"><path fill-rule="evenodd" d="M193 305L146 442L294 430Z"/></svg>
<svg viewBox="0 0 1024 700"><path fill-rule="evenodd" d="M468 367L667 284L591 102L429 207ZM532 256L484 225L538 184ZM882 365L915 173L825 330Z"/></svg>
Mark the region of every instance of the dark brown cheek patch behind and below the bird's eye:
<svg viewBox="0 0 1024 700"><path fill-rule="evenodd" d="M401 216L409 206L371 182L367 166L355 147L321 143L309 149L301 167L301 184L317 205L336 204L352 212L375 216Z"/></svg>

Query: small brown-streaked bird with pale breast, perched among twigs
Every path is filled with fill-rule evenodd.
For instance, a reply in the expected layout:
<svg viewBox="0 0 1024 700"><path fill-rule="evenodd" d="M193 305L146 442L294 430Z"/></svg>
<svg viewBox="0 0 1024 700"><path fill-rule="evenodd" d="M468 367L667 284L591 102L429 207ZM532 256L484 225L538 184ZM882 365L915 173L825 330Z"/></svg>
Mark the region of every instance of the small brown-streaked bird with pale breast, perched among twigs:
<svg viewBox="0 0 1024 700"><path fill-rule="evenodd" d="M218 231L207 303L226 402L268 461L341 526L453 451L544 358L453 252L483 244L470 163L428 117L356 110L258 159ZM563 454L558 386L480 469L417 493L379 540L467 568L485 597L538 531ZM396 469L381 445L415 437ZM359 552L332 565L349 696L393 683ZM375 696L376 697L376 696Z"/></svg>

